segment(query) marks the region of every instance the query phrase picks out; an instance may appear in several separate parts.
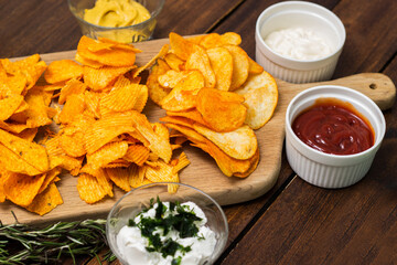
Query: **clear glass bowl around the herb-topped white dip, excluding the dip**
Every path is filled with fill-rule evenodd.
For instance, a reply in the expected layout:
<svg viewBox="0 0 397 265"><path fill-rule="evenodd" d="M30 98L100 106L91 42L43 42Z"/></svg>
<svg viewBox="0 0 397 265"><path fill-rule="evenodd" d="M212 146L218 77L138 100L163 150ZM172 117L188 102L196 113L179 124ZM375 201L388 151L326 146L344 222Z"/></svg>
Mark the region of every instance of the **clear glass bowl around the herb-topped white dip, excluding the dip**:
<svg viewBox="0 0 397 265"><path fill-rule="evenodd" d="M227 219L217 204L217 202L203 191L187 186L178 183L176 193L170 194L168 192L169 182L159 182L142 186L126 193L110 210L106 222L106 236L110 250L117 256L121 264L128 264L124 259L122 254L117 246L118 232L128 224L130 219L133 219L142 210L150 206L150 201L157 201L157 198L162 202L194 202L205 213L207 223L205 226L214 231L216 245L213 254L202 264L213 264L225 248L228 237Z"/></svg>

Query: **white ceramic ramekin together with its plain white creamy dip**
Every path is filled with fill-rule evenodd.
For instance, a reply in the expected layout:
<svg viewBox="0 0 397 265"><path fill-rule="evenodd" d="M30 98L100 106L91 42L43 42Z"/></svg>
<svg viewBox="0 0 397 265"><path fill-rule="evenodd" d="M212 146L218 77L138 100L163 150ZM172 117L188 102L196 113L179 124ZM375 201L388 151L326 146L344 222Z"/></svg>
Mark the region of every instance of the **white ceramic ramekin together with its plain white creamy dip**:
<svg viewBox="0 0 397 265"><path fill-rule="evenodd" d="M267 8L255 30L256 61L291 83L330 80L346 39L341 20L311 2L286 1Z"/></svg>

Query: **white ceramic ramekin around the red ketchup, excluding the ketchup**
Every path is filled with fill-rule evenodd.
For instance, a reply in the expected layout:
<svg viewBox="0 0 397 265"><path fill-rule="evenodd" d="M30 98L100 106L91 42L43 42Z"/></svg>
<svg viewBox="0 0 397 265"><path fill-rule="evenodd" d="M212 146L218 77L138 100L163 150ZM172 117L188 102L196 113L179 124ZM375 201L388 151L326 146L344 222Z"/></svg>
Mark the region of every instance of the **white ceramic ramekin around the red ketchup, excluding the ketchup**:
<svg viewBox="0 0 397 265"><path fill-rule="evenodd" d="M365 116L375 132L375 144L355 155L330 155L318 151L293 132L291 124L303 110L320 97L333 97L348 102ZM386 121L378 106L367 96L343 86L315 86L298 94L286 114L286 151L292 170L303 180L323 188L344 188L360 181L369 170L386 130Z"/></svg>

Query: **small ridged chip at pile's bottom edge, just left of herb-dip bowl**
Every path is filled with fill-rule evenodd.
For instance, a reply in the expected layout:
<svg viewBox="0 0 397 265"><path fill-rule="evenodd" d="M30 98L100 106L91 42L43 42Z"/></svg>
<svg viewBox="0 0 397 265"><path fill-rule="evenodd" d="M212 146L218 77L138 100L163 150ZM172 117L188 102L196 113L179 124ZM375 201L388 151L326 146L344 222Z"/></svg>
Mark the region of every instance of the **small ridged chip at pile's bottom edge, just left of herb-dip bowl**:
<svg viewBox="0 0 397 265"><path fill-rule="evenodd" d="M107 195L107 192L104 187L99 184L98 180L87 173L78 176L77 191L79 198L89 204L98 202Z"/></svg>

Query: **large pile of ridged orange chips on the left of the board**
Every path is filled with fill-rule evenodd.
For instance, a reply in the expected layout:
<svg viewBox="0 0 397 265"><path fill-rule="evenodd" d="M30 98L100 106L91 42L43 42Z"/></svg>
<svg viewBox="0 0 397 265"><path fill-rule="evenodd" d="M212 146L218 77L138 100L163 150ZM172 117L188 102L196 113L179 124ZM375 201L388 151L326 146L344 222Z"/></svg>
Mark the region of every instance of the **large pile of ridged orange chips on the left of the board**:
<svg viewBox="0 0 397 265"><path fill-rule="evenodd" d="M114 184L129 191L179 182L187 157L172 158L181 146L170 144L163 124L151 124L141 114L148 87L139 84L139 74L168 45L141 67L135 65L138 52L130 44L83 36L75 57L79 64L61 60L46 66L39 55L1 60L0 202L45 214L63 203L55 182L64 170L78 177L77 190L87 203L112 197ZM46 84L39 86L43 72ZM49 107L52 98L57 104ZM46 126L53 121L56 130ZM34 142L42 126L45 134ZM169 186L169 192L176 189Z"/></svg>

